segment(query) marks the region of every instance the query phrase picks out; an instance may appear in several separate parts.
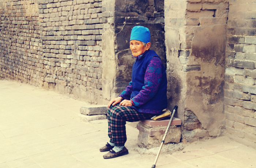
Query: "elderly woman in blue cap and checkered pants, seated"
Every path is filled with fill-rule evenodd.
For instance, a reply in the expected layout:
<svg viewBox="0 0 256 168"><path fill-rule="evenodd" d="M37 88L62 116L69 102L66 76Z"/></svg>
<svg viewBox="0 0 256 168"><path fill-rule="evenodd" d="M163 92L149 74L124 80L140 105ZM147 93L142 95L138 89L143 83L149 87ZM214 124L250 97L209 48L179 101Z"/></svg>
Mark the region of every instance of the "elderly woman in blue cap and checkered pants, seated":
<svg viewBox="0 0 256 168"><path fill-rule="evenodd" d="M150 50L150 31L143 26L132 28L130 49L136 58L132 81L119 97L108 104L108 136L110 141L99 150L109 151L104 159L128 154L126 121L150 119L167 107L165 68L155 51Z"/></svg>

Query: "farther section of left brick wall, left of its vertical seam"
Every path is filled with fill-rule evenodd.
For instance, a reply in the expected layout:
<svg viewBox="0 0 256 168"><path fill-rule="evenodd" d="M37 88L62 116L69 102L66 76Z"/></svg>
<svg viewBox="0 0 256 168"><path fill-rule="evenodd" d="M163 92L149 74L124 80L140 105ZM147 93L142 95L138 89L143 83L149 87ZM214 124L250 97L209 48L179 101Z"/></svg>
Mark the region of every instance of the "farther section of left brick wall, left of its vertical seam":
<svg viewBox="0 0 256 168"><path fill-rule="evenodd" d="M0 1L0 77L42 85L43 59L34 0Z"/></svg>

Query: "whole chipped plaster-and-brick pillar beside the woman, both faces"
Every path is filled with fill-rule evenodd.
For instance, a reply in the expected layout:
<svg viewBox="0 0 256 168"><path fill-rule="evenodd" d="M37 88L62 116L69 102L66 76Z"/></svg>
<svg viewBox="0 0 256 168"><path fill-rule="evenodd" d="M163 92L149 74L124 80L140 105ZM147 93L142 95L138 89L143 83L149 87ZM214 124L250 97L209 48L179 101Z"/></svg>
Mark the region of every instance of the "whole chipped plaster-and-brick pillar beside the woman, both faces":
<svg viewBox="0 0 256 168"><path fill-rule="evenodd" d="M167 70L173 81L169 90L171 102L181 106L182 138L221 136L228 2L166 1L165 5Z"/></svg>

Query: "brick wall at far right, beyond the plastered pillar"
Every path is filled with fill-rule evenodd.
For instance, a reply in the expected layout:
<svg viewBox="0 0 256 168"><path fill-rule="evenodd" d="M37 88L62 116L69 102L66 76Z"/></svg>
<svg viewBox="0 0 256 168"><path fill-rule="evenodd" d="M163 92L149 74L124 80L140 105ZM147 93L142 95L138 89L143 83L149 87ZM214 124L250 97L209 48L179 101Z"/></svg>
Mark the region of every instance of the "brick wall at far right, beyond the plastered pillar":
<svg viewBox="0 0 256 168"><path fill-rule="evenodd" d="M233 139L256 147L256 1L229 1L225 116Z"/></svg>

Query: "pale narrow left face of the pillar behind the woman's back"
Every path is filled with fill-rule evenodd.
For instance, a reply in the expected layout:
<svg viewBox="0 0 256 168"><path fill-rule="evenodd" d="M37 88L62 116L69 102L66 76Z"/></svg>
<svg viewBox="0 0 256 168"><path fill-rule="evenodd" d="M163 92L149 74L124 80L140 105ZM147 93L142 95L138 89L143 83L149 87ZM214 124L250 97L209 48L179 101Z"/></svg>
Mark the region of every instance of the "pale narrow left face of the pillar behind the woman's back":
<svg viewBox="0 0 256 168"><path fill-rule="evenodd" d="M177 117L184 121L185 72L179 60L181 44L185 42L186 1L165 0L165 45L167 59L168 108L178 105ZM183 50L182 50L183 51ZM185 51L185 50L184 50ZM186 52L186 51L185 51Z"/></svg>

